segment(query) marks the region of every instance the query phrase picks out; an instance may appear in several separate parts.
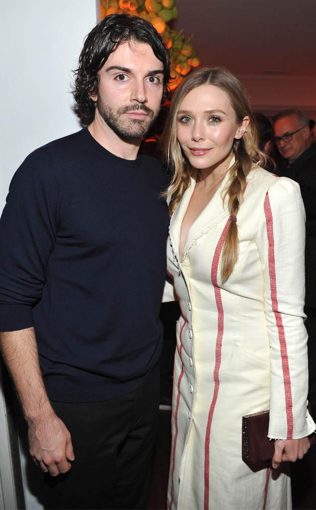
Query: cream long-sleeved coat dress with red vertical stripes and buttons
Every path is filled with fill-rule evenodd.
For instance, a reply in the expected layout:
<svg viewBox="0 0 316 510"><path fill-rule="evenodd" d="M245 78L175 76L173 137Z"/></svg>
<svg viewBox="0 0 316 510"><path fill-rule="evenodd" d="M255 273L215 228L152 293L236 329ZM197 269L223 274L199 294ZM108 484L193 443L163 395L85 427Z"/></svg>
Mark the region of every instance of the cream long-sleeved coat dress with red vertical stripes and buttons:
<svg viewBox="0 0 316 510"><path fill-rule="evenodd" d="M170 224L167 266L182 315L168 505L291 508L286 464L273 471L269 462L242 461L241 422L270 409L270 438L297 439L315 430L306 409L305 212L297 183L253 169L237 214L238 260L223 284L227 181L191 225L182 261L181 224L195 180Z"/></svg>

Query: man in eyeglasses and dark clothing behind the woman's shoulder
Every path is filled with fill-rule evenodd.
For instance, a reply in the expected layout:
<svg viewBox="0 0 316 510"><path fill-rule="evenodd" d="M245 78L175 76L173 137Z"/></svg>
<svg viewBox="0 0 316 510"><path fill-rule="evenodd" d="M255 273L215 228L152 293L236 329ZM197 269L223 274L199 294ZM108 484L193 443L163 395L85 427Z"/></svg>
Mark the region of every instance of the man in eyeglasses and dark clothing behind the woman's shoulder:
<svg viewBox="0 0 316 510"><path fill-rule="evenodd" d="M283 110L272 121L274 142L285 158L279 166L279 175L299 183L306 211L304 311L308 333L308 400L316 416L316 146L312 143L309 119L302 110Z"/></svg>

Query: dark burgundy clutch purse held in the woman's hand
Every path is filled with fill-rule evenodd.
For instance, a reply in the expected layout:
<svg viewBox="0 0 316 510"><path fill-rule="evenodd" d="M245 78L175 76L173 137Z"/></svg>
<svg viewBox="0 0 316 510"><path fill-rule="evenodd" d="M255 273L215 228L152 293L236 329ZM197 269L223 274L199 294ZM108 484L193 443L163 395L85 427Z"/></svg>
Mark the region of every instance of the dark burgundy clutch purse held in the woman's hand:
<svg viewBox="0 0 316 510"><path fill-rule="evenodd" d="M310 406L308 404L310 412ZM242 417L242 460L245 462L266 461L274 455L274 441L268 438L269 411L261 411ZM309 437L310 444L316 442L316 434Z"/></svg>

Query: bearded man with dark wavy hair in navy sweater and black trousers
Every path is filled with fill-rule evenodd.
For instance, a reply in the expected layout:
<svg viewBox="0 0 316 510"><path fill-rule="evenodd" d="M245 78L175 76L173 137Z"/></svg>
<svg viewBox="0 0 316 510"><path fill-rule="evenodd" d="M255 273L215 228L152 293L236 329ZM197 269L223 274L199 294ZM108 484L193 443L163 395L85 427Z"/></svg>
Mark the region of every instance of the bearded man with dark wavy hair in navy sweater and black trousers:
<svg viewBox="0 0 316 510"><path fill-rule="evenodd" d="M27 157L0 222L1 346L53 508L145 507L168 210L137 152L168 79L151 23L104 18L76 71L88 127Z"/></svg>

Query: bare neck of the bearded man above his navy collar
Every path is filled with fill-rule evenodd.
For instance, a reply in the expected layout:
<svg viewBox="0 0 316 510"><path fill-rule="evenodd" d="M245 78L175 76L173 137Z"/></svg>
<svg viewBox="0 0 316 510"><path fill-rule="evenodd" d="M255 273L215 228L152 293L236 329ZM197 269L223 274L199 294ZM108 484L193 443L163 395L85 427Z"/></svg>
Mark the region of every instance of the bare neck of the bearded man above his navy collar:
<svg viewBox="0 0 316 510"><path fill-rule="evenodd" d="M100 122L96 118L88 126L88 130L94 140L109 152L118 156L118 158L127 160L135 160L137 158L141 138L124 140L117 136L105 122Z"/></svg>

